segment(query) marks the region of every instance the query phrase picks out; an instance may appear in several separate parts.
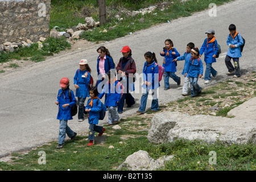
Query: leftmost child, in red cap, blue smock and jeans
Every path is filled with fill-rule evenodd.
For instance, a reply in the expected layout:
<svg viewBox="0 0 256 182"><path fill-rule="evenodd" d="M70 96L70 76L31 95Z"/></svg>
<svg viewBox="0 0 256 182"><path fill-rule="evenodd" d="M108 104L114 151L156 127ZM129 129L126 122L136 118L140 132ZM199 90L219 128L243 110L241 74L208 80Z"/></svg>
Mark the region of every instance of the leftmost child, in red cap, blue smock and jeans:
<svg viewBox="0 0 256 182"><path fill-rule="evenodd" d="M59 112L57 114L57 119L60 120L59 127L59 145L57 149L63 148L65 143L66 133L71 140L75 140L77 133L70 129L68 126L68 120L73 119L71 115L71 107L76 104L76 97L71 90L71 98L69 98L69 80L67 77L61 78L60 80L59 93L57 95L56 105L59 105Z"/></svg>

